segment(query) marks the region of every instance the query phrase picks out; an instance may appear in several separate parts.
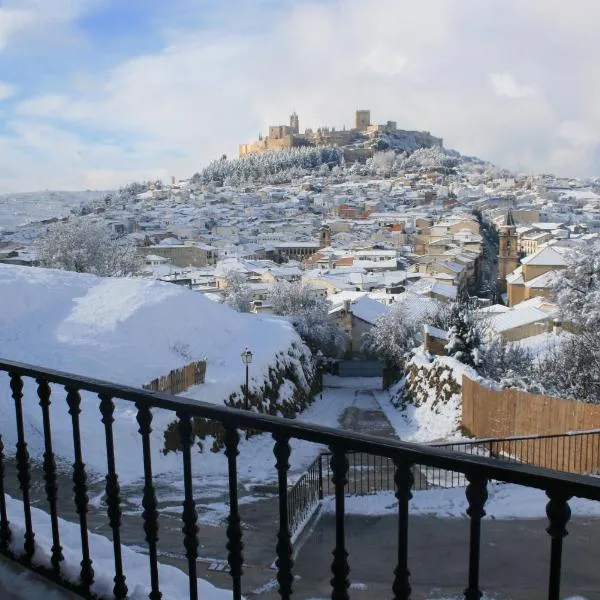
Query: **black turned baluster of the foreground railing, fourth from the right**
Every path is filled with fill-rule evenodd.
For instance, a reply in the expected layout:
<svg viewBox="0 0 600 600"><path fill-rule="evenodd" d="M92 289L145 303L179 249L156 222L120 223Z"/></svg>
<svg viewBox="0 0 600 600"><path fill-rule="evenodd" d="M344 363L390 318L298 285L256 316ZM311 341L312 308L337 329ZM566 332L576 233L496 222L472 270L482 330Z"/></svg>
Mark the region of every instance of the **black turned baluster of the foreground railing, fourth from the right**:
<svg viewBox="0 0 600 600"><path fill-rule="evenodd" d="M345 543L346 515L344 508L344 489L348 481L348 457L346 451L339 446L333 446L331 452L331 470L335 488L335 549L332 552L333 562L331 563L331 572L333 573L331 600L348 600L350 566Z"/></svg>

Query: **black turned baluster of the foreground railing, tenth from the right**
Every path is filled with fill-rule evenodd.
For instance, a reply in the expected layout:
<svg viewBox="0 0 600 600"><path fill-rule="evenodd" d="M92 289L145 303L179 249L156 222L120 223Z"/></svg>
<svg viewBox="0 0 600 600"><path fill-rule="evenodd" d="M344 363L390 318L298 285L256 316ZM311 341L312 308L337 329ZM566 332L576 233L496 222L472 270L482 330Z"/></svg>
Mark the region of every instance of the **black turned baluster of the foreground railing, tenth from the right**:
<svg viewBox="0 0 600 600"><path fill-rule="evenodd" d="M83 455L81 453L81 430L79 427L79 413L81 412L81 396L79 390L74 387L65 387L67 391L67 404L69 405L69 414L71 415L71 425L73 428L73 451L75 462L73 463L73 493L75 498L75 508L79 515L79 529L81 533L81 585L85 592L89 593L92 582L94 581L94 569L90 558L90 546L88 541L88 494L87 494L87 475Z"/></svg>

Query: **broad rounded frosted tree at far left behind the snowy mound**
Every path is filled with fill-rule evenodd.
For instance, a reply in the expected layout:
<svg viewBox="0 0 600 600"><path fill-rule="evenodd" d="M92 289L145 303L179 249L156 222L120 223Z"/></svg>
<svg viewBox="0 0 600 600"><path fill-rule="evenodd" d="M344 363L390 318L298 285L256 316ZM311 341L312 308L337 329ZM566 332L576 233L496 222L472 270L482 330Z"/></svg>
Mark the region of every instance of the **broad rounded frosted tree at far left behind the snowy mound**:
<svg viewBox="0 0 600 600"><path fill-rule="evenodd" d="M102 277L135 274L141 265L133 241L103 223L72 218L48 227L36 242L40 266Z"/></svg>

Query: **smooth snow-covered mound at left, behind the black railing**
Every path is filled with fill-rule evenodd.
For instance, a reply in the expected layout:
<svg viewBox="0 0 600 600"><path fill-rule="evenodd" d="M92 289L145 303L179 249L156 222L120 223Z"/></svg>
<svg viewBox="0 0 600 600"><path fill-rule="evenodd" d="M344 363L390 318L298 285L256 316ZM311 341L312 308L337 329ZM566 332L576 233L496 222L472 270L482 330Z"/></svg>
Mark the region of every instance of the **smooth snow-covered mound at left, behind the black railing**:
<svg viewBox="0 0 600 600"><path fill-rule="evenodd" d="M192 360L206 358L206 382L186 395L213 403L240 392L245 378L240 358L244 347L254 353L251 389L268 378L277 356L293 366L306 352L292 326L283 319L237 313L187 288L144 279L103 279L0 265L0 306L3 358L137 387ZM286 382L282 388L281 393L287 396L293 386ZM61 398L59 394L63 392L55 386L55 451L70 460L70 418L64 395ZM14 423L4 374L0 374L0 398L0 420ZM39 457L43 452L41 411L31 380L26 380L25 413L29 449L32 456ZM130 404L118 403L116 437L130 440L132 452L121 455L122 473L130 479L139 476L141 465L135 456L139 450L135 416ZM99 417L97 399L84 394L86 462L102 471L106 466ZM161 453L165 428L173 420L173 413L155 411L153 446L159 472L179 464L178 458L173 457L173 462ZM3 428L2 433L10 452L16 442L14 428Z"/></svg>

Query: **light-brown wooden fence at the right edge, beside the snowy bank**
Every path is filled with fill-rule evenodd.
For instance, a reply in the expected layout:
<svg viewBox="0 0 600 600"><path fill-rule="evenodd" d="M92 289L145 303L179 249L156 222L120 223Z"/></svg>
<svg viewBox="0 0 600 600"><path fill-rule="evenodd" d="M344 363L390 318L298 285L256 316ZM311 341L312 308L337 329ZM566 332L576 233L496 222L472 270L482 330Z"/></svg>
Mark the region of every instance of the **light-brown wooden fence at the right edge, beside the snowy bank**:
<svg viewBox="0 0 600 600"><path fill-rule="evenodd" d="M600 429L600 406L529 394L514 389L490 390L463 376L462 424L477 438L565 434ZM540 467L573 473L600 472L600 437L494 442L492 451Z"/></svg>

